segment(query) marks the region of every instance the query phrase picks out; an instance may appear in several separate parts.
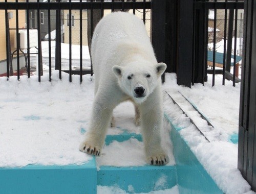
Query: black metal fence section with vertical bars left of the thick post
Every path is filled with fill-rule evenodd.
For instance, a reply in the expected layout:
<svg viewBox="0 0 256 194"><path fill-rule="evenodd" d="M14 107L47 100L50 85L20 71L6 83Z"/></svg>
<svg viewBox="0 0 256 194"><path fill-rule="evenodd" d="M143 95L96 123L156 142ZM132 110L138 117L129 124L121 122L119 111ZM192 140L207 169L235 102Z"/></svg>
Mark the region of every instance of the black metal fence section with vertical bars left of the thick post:
<svg viewBox="0 0 256 194"><path fill-rule="evenodd" d="M20 48L20 37L18 36L19 30L24 30L23 28L20 28L18 23L19 23L19 11L20 10L25 10L26 11L26 26L31 27L31 15L32 11L35 13L35 21L33 23L36 23L34 26L35 29L37 29L38 34L37 34L37 50L38 50L38 61L36 62L38 64L37 66L37 75L38 75L38 81L40 81L40 77L43 73L42 71L42 47L41 47L41 24L42 24L42 15L41 13L47 13L47 23L48 23L48 48L49 48L49 57L48 57L48 66L49 66L49 80L51 80L51 71L52 71L52 66L54 63L55 69L59 70L59 78L61 79L61 74L62 71L69 72L69 79L72 81L72 74L79 74L80 75L80 81L82 82L82 75L83 74L88 74L90 73L91 75L93 74L92 72L92 64L90 70L83 70L83 56L82 56L82 46L83 46L83 29L82 27L86 25L82 19L82 12L87 11L90 12L90 17L87 18L87 23L88 29L90 29L90 32L88 32L88 36L91 38L93 34L93 29L97 23L97 21L103 17L104 15L104 10L110 10L110 11L127 11L127 10L132 10L133 14L140 13L144 23L146 21L146 12L147 10L151 9L151 1L150 0L132 0L132 1L124 1L124 0L112 0L108 2L104 2L103 0L89 0L89 1L73 1L73 0L68 0L68 1L61 1L61 0L56 0L56 1L51 1L48 0L47 2L42 2L42 1L37 1L37 2L29 2L28 0L25 1L18 1L16 0L15 2L8 2L8 0L5 0L5 2L0 2L0 11L5 10L5 22L6 22L6 68L7 68L7 77L11 76L13 74L12 70L12 61L13 61L13 56L16 55L16 61L17 61L17 79L20 77L20 55L23 54L25 55L26 59L26 69L27 69L27 75L30 77L30 69L31 69L31 55L35 53L30 52L30 31L32 29L27 28L27 50L26 53L24 53ZM9 10L14 10L15 12L15 18L16 18L16 27L15 28L9 28L9 18L8 18L8 11ZM42 12L44 10L44 12ZM63 25L63 11L68 12L68 18L67 20L70 22L70 25L68 25L69 31L68 31L68 44L69 44L69 58L68 58L68 69L62 69L62 58L61 58L61 42L63 41L62 37L62 25ZM72 69L72 32L73 32L73 25L72 23L74 22L74 18L72 15L72 11L76 10L79 12L78 18L79 18L79 52L80 52L80 57L79 57L79 70L74 70ZM54 14L55 19L54 21L56 22L56 33L54 34L56 37L55 39L55 56L52 56L52 23L53 19L51 18L52 11L55 11L56 14ZM99 18L94 18L94 17L99 17ZM87 25L86 25L87 26ZM11 55L11 40L10 40L10 30L15 30L16 31L16 42L17 42L17 49L15 52L12 53ZM90 44L90 38L88 39L88 43ZM52 58L55 57L55 61L52 61Z"/></svg>

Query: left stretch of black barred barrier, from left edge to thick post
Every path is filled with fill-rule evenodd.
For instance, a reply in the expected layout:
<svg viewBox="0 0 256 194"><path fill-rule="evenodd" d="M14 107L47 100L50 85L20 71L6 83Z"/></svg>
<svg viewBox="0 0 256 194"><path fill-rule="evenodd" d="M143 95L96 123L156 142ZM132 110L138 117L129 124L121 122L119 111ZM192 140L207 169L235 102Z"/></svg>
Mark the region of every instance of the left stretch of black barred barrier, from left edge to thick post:
<svg viewBox="0 0 256 194"><path fill-rule="evenodd" d="M8 35L9 35L9 22L8 22L8 10L15 10L15 15L16 15L16 42L17 42L17 48L19 48L19 30L21 30L18 26L18 20L19 20L19 14L18 14L18 10L26 10L26 24L27 27L30 27L30 16L29 16L29 12L31 10L36 10L37 11L37 17L36 17L36 29L38 30L38 32L40 32L40 10L47 10L48 11L48 34L49 34L49 80L51 81L51 69L52 69L52 61L51 61L51 14L50 11L54 10L56 11L56 47L55 47L55 69L59 70L59 78L61 79L61 25L63 25L63 21L61 21L62 19L62 15L61 15L61 11L62 10L69 10L69 21L71 22L72 18L71 18L71 11L72 10L79 10L79 29L80 29L80 40L79 40L79 45L80 45L80 69L78 71L78 74L80 75L80 82L82 82L82 75L88 73L84 72L82 70L82 10L88 10L90 11L91 17L90 17L90 38L92 37L92 33L93 33L93 29L96 26L96 23L94 21L94 12L96 12L97 10L100 10L100 17L103 17L103 11L104 10L111 10L113 11L125 11L125 10L133 10L133 14L136 13L136 10L142 10L143 12L143 21L145 22L145 13L146 13L146 9L151 9L151 1L148 0L142 0L142 1L127 1L124 2L123 1L114 1L112 0L111 2L104 2L103 0L98 0L98 1L72 1L72 0L68 0L65 2L62 2L61 0L57 0L56 2L52 2L50 0L48 0L47 2L41 2L39 0L37 0L37 2L29 2L28 0L26 0L26 2L18 2L17 0L15 2L8 2L7 0L5 0L5 2L0 2L0 10L5 10L5 21L6 21L6 61L7 61L7 77L9 77L12 74L12 71L10 71L10 64L12 63L11 61L11 46L10 46L10 40L8 40ZM89 19L88 19L89 20ZM24 29L23 29L24 30ZM27 28L27 47L30 48L30 28ZM41 59L41 47L40 42L41 42L41 38L40 37L40 33L38 33L38 81L40 82L40 76L42 75L42 59ZM70 77L69 80L70 82L72 81L72 74L74 73L72 71L72 25L69 25L69 70L67 72L69 72ZM30 49L27 50L27 72L28 72L28 77L30 77ZM20 56L20 50L17 49L17 79L19 80L20 77L20 72L19 72L19 56ZM93 74L92 71L92 64L91 64L91 70L89 71L90 74Z"/></svg>

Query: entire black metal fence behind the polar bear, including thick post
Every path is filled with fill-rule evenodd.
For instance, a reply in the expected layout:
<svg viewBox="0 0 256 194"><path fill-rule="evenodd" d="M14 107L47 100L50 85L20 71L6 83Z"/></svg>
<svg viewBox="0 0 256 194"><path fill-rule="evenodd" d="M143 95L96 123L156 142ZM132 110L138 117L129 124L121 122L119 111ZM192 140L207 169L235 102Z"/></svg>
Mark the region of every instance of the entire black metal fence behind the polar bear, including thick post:
<svg viewBox="0 0 256 194"><path fill-rule="evenodd" d="M204 83L208 81L208 74L212 74L212 85L215 85L215 75L222 74L223 85L225 80L229 79L233 81L233 85L240 81L238 78L239 66L236 65L238 58L241 58L238 52L240 46L238 46L238 36L242 40L241 32L243 31L241 25L238 25L238 21L243 20L242 12L243 1L239 0L213 0L213 1L198 1L198 0L112 0L105 2L103 0L89 0L89 1L72 1L72 0L48 0L47 2L5 2L0 3L0 10L5 10L6 26L8 26L8 10L14 10L16 16L16 27L10 29L6 28L6 58L7 58L7 76L12 75L12 58L10 30L15 30L16 34L20 30L18 26L19 22L19 10L26 11L26 26L34 27L38 30L38 68L37 75L40 81L40 76L43 73L42 63L47 63L49 66L49 80L51 80L51 69L59 70L59 78L61 79L61 72L66 71L70 74L70 81L72 81L72 74L79 74L80 81L82 81L83 74L92 74L92 66L85 70L83 68L85 61L83 60L82 50L84 42L84 36L88 36L88 44L90 45L90 37L92 37L93 29L97 21L103 17L104 10L132 10L134 14L140 13L143 21L146 21L146 13L150 12L147 20L151 19L151 38L156 52L158 61L165 62L167 64L167 72L176 72L177 82L179 85L185 85L190 87L194 83ZM74 17L73 12L76 10L78 14ZM84 19L83 12L87 11L87 18ZM65 11L66 15L63 14ZM218 18L219 12L222 11L222 18ZM92 14L91 14L92 12ZM33 15L32 15L33 13ZM53 14L54 13L54 14ZM212 14L209 14L212 13ZM46 15L45 26L42 26L42 15ZM53 19L53 17L55 17ZM31 18L34 18L32 20ZM222 22L220 22L222 20ZM44 21L43 21L44 22ZM54 22L54 25L53 25ZM70 25L68 25L70 22ZM72 44L74 34L74 22L77 22L77 36L79 44L79 62L76 70L72 68L74 59L72 59ZM62 26L64 24L68 28L63 33ZM150 23L147 21L147 23ZM55 28L53 29L53 26ZM83 26L87 26L88 31L84 33ZM44 28L44 29L43 29ZM47 30L45 30L47 29ZM221 29L221 31L219 30ZM27 28L27 44L30 47L30 28ZM55 48L52 46L51 31L56 30L55 33ZM42 58L41 39L42 31L48 34L48 47L49 57ZM65 34L65 35L63 35ZM66 43L69 44L69 57L63 60L61 58L61 42L65 36ZM9 40L8 40L9 39ZM234 41L233 41L234 40ZM17 47L19 47L19 36L16 37ZM217 46L223 42L223 50L218 51ZM233 43L232 43L233 42ZM242 41L239 41L240 44ZM209 46L211 44L211 47ZM52 49L55 50L55 56L52 56ZM219 49L220 50L220 49ZM15 56L17 61L17 77L19 79L19 57L20 54L24 54L23 51L17 49ZM31 64L30 49L27 50L25 59L27 61L27 74L30 77L30 64ZM209 57L211 55L211 57ZM222 62L216 61L216 55L221 55ZM52 58L55 60L53 61ZM210 60L209 60L210 58ZM88 61L87 61L88 62ZM64 69L63 63L66 63ZM89 62L90 63L90 59ZM90 63L91 64L91 63ZM233 70L230 73L231 66ZM237 76L236 76L237 75Z"/></svg>

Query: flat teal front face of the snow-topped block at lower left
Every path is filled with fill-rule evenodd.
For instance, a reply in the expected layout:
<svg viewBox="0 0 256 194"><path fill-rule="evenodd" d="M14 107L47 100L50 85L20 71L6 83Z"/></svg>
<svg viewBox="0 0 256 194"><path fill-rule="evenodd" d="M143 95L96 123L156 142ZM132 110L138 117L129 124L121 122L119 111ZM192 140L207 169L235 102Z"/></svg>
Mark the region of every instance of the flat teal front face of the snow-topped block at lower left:
<svg viewBox="0 0 256 194"><path fill-rule="evenodd" d="M1 194L96 193L95 159L67 166L0 168Z"/></svg>

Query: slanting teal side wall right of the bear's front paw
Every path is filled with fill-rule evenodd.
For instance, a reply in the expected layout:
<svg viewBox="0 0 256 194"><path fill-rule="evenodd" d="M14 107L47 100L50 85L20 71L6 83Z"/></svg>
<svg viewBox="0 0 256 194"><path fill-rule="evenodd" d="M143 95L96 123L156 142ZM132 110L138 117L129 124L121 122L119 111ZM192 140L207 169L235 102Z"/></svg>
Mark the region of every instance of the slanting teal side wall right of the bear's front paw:
<svg viewBox="0 0 256 194"><path fill-rule="evenodd" d="M180 136L182 128L175 126L168 115L164 115L172 130L173 153L176 162L177 184L180 194L223 193L214 180L206 172L186 141Z"/></svg>

